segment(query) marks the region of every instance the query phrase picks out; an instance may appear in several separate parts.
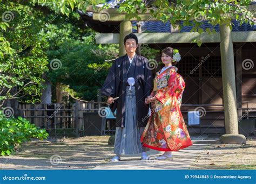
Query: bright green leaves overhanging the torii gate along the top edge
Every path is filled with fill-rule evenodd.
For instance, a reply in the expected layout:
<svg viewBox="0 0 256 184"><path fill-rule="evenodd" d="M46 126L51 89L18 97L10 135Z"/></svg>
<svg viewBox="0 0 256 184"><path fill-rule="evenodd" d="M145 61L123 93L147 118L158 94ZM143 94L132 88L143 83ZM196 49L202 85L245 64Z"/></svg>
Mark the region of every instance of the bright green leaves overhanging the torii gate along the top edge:
<svg viewBox="0 0 256 184"><path fill-rule="evenodd" d="M139 12L145 12L150 8L150 13L154 18L166 22L170 20L175 25L179 20L184 20L184 25L194 25L194 30L201 31L199 26L201 20L208 20L209 23L231 25L231 19L241 20L241 22L252 22L253 12L246 8L250 5L250 0L244 1L190 1L177 0L152 1L153 3L145 6L142 1L127 0L120 4L119 12L126 12L127 16L139 17ZM199 16L199 17L198 17ZM200 19L203 18L203 19ZM190 20L193 20L192 22Z"/></svg>

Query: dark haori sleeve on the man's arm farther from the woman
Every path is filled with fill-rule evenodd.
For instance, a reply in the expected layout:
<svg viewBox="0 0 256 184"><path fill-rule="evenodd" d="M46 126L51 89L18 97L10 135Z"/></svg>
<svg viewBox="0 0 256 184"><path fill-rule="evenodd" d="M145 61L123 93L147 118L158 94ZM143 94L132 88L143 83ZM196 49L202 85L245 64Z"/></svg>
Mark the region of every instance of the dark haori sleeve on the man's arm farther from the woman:
<svg viewBox="0 0 256 184"><path fill-rule="evenodd" d="M104 96L116 96L116 61L113 63L109 70L109 74L107 74L106 80L101 89L101 94Z"/></svg>

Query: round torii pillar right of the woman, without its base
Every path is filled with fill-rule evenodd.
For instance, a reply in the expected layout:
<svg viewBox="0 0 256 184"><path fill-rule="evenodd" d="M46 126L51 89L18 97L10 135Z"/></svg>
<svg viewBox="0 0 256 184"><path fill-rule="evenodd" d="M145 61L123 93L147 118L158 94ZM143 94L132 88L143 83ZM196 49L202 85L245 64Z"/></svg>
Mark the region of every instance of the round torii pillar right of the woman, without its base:
<svg viewBox="0 0 256 184"><path fill-rule="evenodd" d="M224 114L226 134L238 134L237 95L235 90L234 53L231 29L220 25L220 54L223 80Z"/></svg>

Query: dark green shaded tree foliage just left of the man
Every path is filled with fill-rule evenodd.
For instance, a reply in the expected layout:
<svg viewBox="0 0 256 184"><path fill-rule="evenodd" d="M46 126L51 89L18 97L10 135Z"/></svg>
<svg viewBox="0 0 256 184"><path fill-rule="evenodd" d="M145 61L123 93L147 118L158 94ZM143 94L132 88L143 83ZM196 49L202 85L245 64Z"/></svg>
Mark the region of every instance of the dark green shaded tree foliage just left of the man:
<svg viewBox="0 0 256 184"><path fill-rule="evenodd" d="M68 51L68 52L67 52ZM60 60L61 68L51 70L49 79L66 84L76 91L76 96L85 100L96 100L97 90L102 87L111 61L117 58L117 45L96 45L94 36L83 40L69 40L59 45L59 49L49 51L51 57Z"/></svg>

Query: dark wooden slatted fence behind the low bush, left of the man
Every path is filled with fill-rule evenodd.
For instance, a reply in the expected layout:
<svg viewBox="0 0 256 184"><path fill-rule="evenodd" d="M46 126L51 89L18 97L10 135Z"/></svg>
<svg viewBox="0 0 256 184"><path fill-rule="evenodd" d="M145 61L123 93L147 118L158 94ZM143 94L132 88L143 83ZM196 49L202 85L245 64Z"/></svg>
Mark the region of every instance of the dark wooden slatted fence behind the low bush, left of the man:
<svg viewBox="0 0 256 184"><path fill-rule="evenodd" d="M83 113L98 112L104 103L98 102L79 102L76 103L53 103L53 104L19 104L18 109L22 110L22 116L31 123L44 128L48 131L67 131L76 133L80 136L84 130Z"/></svg>

